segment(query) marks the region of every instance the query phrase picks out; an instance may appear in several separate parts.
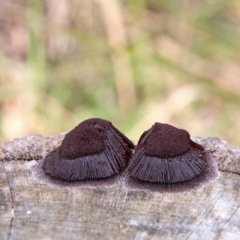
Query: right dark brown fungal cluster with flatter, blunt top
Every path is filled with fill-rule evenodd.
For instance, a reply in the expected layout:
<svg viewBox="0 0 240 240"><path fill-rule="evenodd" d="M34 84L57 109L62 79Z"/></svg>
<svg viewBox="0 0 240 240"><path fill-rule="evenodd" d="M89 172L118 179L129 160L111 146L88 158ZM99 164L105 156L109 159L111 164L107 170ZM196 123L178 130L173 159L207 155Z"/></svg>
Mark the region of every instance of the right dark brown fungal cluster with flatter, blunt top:
<svg viewBox="0 0 240 240"><path fill-rule="evenodd" d="M203 146L187 131L155 123L141 136L128 172L141 181L172 184L193 179L206 167Z"/></svg>

